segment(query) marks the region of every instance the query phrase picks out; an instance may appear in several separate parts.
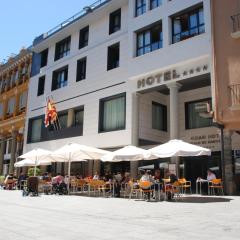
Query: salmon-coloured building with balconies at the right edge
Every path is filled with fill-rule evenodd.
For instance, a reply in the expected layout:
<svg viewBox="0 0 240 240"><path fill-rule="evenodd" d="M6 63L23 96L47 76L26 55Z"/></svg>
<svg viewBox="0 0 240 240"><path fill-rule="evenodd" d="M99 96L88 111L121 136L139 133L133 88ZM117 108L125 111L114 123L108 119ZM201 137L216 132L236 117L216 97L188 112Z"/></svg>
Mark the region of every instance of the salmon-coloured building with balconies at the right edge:
<svg viewBox="0 0 240 240"><path fill-rule="evenodd" d="M240 190L240 156L233 146L240 134L240 1L212 0L211 10L214 118L224 128L225 181L231 192Z"/></svg>

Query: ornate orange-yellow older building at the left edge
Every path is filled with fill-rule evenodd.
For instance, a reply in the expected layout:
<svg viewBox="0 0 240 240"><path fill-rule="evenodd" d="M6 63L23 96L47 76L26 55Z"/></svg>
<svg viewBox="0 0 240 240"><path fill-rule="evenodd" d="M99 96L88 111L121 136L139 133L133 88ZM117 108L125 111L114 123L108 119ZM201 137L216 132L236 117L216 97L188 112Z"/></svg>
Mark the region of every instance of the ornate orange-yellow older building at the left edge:
<svg viewBox="0 0 240 240"><path fill-rule="evenodd" d="M0 175L14 173L22 153L32 54L22 49L0 65Z"/></svg>

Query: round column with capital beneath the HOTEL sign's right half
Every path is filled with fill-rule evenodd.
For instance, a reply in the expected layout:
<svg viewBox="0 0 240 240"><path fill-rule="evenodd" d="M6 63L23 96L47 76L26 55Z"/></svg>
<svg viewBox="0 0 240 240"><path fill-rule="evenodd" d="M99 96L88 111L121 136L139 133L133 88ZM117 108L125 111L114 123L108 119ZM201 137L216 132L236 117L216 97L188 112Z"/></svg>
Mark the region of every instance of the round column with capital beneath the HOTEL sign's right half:
<svg viewBox="0 0 240 240"><path fill-rule="evenodd" d="M179 112L178 112L178 90L181 84L177 82L167 84L170 91L170 139L178 139L178 123L179 123ZM179 157L172 157L171 163L176 164L176 174L179 176Z"/></svg>

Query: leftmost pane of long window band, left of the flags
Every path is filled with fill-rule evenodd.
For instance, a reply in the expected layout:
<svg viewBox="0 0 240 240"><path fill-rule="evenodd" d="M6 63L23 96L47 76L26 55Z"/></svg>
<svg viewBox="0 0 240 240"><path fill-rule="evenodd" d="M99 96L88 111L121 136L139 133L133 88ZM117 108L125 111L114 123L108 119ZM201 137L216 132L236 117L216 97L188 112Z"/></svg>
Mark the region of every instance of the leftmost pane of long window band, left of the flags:
<svg viewBox="0 0 240 240"><path fill-rule="evenodd" d="M29 142L40 142L42 130L42 118L29 120Z"/></svg>

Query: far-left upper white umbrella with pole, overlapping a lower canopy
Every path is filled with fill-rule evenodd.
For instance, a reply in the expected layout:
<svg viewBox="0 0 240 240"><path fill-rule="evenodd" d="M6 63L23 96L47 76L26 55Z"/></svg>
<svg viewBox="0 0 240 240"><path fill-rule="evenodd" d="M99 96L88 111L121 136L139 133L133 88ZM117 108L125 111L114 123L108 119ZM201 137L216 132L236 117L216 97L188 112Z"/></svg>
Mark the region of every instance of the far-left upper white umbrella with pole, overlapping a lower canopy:
<svg viewBox="0 0 240 240"><path fill-rule="evenodd" d="M52 153L51 151L44 150L41 148L36 148L36 149L33 149L33 150L19 156L18 158L28 159L28 160L32 160L35 162L35 165L34 165L34 176L35 176L37 166L44 165L45 163L51 162L48 158L51 153Z"/></svg>

